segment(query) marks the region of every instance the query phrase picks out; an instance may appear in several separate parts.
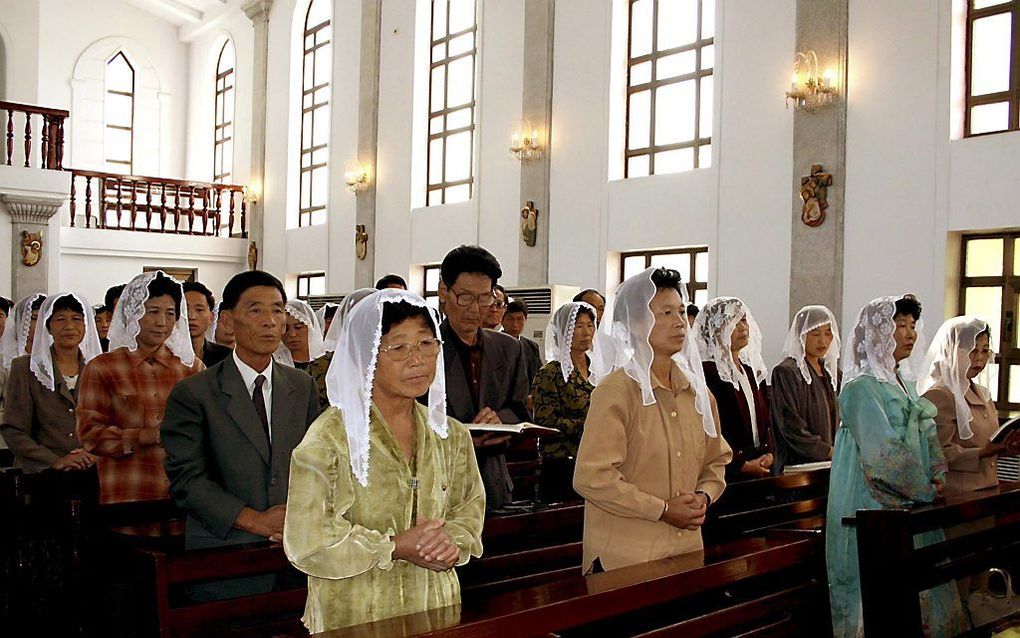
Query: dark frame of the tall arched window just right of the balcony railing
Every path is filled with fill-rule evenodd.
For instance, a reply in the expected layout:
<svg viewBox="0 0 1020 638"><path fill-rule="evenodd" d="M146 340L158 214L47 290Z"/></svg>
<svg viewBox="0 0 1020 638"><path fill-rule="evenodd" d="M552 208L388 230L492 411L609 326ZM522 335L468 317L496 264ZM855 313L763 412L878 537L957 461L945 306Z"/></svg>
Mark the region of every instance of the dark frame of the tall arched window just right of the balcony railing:
<svg viewBox="0 0 1020 638"><path fill-rule="evenodd" d="M319 22L317 24L309 24L308 23L308 18L311 16L312 7L314 6L314 4L316 2L324 2L324 3L326 3L326 4L329 5L329 17L328 17L328 19L323 20L323 21L321 21L321 22ZM306 227L306 226L317 226L316 224L314 224L314 219L316 217L315 213L317 213L319 211L325 211L327 213L328 209L329 209L329 140L327 139L324 143L318 144L318 145L316 145L314 143L314 140L315 140L315 112L317 110L319 110L319 109L324 109L324 111L322 111L322 112L325 113L325 118L327 120L332 120L332 118L333 118L333 71L334 71L333 59L332 59L332 56L333 56L333 42L334 42L333 17L334 17L334 15L333 15L333 5L332 5L332 3L327 2L327 0L310 0L310 2L308 2L308 7L305 10L305 20L303 22L302 36L301 36L301 51L302 51L302 54L301 54L301 99L298 102L299 105L300 105L300 108L301 108L301 112L300 112L301 131L300 131L300 137L298 138L298 145L299 145L299 151L298 151L298 228L303 228L303 227ZM320 31L322 31L323 29L327 29L327 28L330 30L329 31L329 39L326 40L325 42L318 42L317 38L316 38L317 34ZM312 46L311 46L311 48L308 47L308 38L309 37L312 38ZM312 69L312 81L314 82L314 81L317 80L314 77L315 76L315 68L316 68L316 61L317 61L317 57L316 56L319 54L319 51L321 51L321 49L323 47L328 47L329 48L329 50L328 50L328 55L330 56L330 59L329 59L329 79L326 82L321 83L321 84L313 84L310 88L306 89L305 85L306 85L306 82L307 82L307 78L306 78L305 73L306 73L306 69L309 68L309 61L308 61L309 60L309 56L311 56L310 67ZM315 96L322 89L326 89L327 90L326 101L324 101L324 102L322 102L320 104L316 104L314 102ZM310 106L305 106L305 99L308 98L309 96L310 96L310 99L312 100L312 103L311 103ZM307 148L305 147L305 115L309 115L308 119L309 119L309 126L310 126L309 132L308 132L308 143L309 143L309 146ZM330 127L330 131L332 131L332 127ZM323 154L325 155L325 160L322 161L321 163L312 163L312 158L315 157L315 155L319 151L323 152ZM304 165L304 163L305 163L305 157L306 156L308 157L308 166ZM315 192L315 186L314 186L314 184L312 182L313 182L313 179L314 179L315 171L317 169L319 169L319 168L325 168L325 181L326 181L326 185L325 185L325 189L326 189L325 190L325 202L322 205L314 205L312 203L312 195ZM305 173L308 174L308 191L307 192L308 192L308 203L309 203L309 206L307 206L307 207L303 206L303 201L304 201L304 198L305 198L305 190L303 188L304 180L302 178L304 177Z"/></svg>

